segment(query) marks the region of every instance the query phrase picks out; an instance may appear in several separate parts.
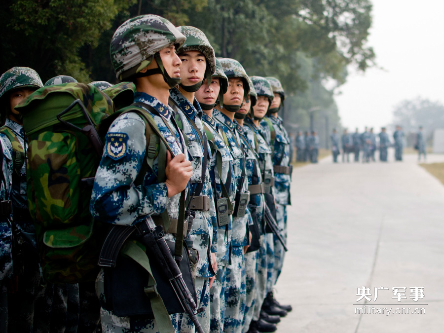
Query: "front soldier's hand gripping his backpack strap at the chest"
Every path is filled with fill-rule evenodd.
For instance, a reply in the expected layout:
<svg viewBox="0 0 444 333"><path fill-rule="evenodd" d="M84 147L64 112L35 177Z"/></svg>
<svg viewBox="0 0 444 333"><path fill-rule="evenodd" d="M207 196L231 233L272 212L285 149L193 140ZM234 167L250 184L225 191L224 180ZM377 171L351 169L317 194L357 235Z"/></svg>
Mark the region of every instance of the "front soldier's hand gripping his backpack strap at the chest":
<svg viewBox="0 0 444 333"><path fill-rule="evenodd" d="M171 153L167 150L167 163L165 168L167 179L165 185L168 189L169 198L185 189L192 174L193 167L190 161L185 160L184 154L179 154L171 158Z"/></svg>

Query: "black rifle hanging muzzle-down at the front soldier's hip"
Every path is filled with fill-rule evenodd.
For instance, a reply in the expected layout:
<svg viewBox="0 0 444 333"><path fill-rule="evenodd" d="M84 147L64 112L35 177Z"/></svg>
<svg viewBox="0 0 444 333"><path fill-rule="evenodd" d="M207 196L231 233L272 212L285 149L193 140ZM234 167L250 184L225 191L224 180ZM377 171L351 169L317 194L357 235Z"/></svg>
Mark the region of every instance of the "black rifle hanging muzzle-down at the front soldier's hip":
<svg viewBox="0 0 444 333"><path fill-rule="evenodd" d="M142 244L154 254L159 266L162 267L163 273L170 281L171 287L173 287L182 307L196 327L196 332L204 333L197 320L197 314L202 312L203 309L196 309L196 303L185 285L182 272L163 238L162 226L156 226L152 219L148 217L144 222L137 223L135 227L141 236L140 241Z"/></svg>

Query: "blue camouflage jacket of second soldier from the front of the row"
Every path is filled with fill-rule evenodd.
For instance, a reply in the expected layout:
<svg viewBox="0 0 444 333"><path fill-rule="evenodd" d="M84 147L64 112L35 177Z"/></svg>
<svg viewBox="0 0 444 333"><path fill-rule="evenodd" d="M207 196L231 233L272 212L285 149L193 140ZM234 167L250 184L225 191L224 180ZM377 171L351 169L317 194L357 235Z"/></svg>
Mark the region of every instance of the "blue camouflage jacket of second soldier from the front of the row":
<svg viewBox="0 0 444 333"><path fill-rule="evenodd" d="M176 88L170 90L169 103L176 113L176 120L179 127L183 129L183 133L186 135L188 140L187 147L189 153L193 157L191 162L193 166L193 175L190 178L191 194L194 194L197 185L203 182L202 190L198 195L209 196L211 200L209 211L195 211L196 216L194 217L190 231L190 238L193 240L193 247L199 252L196 275L200 277L210 277L213 276L213 274L209 271L211 257L208 248L210 248L211 252L213 253L217 252L218 221L216 217L213 188L211 186L209 173L211 151L201 119L203 112L197 100L194 100L193 105L191 105L184 95L182 95L182 93ZM199 130L199 133L197 133L196 129L191 125L191 121L194 122ZM202 137L206 142L202 142L200 137ZM208 152L206 164L202 165L204 145L207 145ZM205 179L202 179L202 168L206 168Z"/></svg>

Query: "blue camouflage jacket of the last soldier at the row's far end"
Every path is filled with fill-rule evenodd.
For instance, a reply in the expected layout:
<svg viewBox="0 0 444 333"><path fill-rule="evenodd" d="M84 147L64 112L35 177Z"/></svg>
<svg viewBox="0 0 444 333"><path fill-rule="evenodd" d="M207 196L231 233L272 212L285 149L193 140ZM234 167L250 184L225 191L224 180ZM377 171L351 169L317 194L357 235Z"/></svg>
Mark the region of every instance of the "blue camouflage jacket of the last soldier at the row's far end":
<svg viewBox="0 0 444 333"><path fill-rule="evenodd" d="M273 143L273 165L289 166L290 165L290 144L289 135L287 130L282 124L282 118L277 116L270 116L269 119L273 124L273 128L276 131L276 137ZM264 130L269 130L268 124L262 120L260 127ZM274 199L276 203L281 205L290 204L290 175L282 173L276 173L274 175L275 195Z"/></svg>

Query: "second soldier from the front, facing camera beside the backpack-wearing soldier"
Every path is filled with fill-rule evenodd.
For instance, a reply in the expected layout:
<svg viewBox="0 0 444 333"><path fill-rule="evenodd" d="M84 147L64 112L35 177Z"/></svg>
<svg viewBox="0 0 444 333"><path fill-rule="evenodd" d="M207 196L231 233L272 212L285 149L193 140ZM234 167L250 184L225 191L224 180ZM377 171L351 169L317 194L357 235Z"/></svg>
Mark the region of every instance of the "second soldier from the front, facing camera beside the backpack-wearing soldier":
<svg viewBox="0 0 444 333"><path fill-rule="evenodd" d="M213 188L208 172L210 167L211 149L205 135L202 123L202 109L194 98L194 92L199 90L207 77L211 84L211 76L216 71L216 57L203 32L194 27L183 26L178 30L185 35L185 43L177 50L182 61L181 83L170 90L169 105L176 113L176 120L184 136L187 137L187 147L193 157L193 176L190 179L192 193L191 214L194 215L189 238L193 248L198 252L196 264L195 286L198 308L204 311L198 314L198 319L205 332L210 331L210 287L209 278L216 274L217 262L217 232ZM194 332L194 325L188 316L184 315L181 332Z"/></svg>

